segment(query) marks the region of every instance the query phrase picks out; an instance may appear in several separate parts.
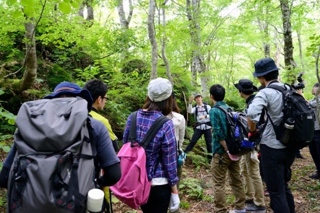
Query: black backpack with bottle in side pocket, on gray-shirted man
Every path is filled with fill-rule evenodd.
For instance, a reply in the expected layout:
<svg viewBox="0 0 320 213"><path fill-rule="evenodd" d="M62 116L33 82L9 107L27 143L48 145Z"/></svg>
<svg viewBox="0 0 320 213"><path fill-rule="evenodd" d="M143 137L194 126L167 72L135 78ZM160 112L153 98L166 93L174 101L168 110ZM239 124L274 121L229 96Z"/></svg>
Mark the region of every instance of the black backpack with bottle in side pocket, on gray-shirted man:
<svg viewBox="0 0 320 213"><path fill-rule="evenodd" d="M288 88L285 85L287 85ZM287 83L283 86L269 84L267 88L273 88L282 92L283 118L281 122L278 125L275 125L266 111L266 115L276 134L276 139L281 141L282 133L285 132L285 121L289 118L293 118L293 130L290 133L288 142L283 144L291 149L301 149L309 145L313 138L315 119L310 104Z"/></svg>

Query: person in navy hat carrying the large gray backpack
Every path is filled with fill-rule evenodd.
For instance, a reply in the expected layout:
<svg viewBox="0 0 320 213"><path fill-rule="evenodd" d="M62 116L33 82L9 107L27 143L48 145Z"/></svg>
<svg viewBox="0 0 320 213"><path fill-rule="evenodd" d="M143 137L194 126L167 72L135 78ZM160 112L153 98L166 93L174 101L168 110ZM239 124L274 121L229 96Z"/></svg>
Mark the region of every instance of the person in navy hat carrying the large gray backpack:
<svg viewBox="0 0 320 213"><path fill-rule="evenodd" d="M53 92L43 99L22 104L15 120L17 130L14 144L0 171L0 187L8 188L8 197L24 200L17 206L15 198L8 198L8 207L17 206L15 212L59 213L66 209L81 212L85 210L82 202L86 201L90 189L110 186L120 179L120 160L113 149L107 128L102 122L88 116L91 105L89 91L67 81L57 84ZM14 160L17 156L30 161L30 164L23 164L21 168ZM29 160L29 156L32 156L32 160ZM19 166L18 169L23 169L23 175L32 174L26 175L29 179L24 179L23 196L16 195L17 189L8 187L11 183L17 184L10 182L14 178L9 175L16 175L15 170L10 171L13 162ZM67 172L69 177L64 175L65 168L70 169ZM99 168L103 169L103 175L99 175ZM58 183L63 183L63 187L55 183L56 179ZM20 187L19 184L14 188ZM34 191L37 188L41 188L40 192ZM77 196L71 197L70 201L62 201L66 192ZM10 205L10 202L13 204ZM102 210L109 212L108 209L107 204L103 205Z"/></svg>

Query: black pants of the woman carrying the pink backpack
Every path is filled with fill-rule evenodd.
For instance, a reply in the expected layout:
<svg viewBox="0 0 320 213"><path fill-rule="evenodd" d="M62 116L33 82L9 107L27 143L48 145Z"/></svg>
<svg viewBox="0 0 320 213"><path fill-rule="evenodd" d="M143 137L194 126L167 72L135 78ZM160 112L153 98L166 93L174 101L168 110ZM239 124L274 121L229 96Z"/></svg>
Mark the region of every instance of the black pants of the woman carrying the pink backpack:
<svg viewBox="0 0 320 213"><path fill-rule="evenodd" d="M151 186L147 203L141 205L143 213L166 213L171 197L171 187L168 184Z"/></svg>

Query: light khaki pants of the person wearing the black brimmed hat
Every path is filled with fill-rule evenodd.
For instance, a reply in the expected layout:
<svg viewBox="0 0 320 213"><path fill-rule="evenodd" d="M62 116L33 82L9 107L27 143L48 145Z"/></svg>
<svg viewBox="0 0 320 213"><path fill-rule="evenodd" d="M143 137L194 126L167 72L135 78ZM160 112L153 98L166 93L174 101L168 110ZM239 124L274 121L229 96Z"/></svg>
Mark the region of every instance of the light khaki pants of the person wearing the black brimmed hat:
<svg viewBox="0 0 320 213"><path fill-rule="evenodd" d="M256 155L257 153L253 151L252 154ZM255 205L265 207L259 161L257 158L251 159L251 152L242 155L240 171L244 177L245 199L253 199Z"/></svg>

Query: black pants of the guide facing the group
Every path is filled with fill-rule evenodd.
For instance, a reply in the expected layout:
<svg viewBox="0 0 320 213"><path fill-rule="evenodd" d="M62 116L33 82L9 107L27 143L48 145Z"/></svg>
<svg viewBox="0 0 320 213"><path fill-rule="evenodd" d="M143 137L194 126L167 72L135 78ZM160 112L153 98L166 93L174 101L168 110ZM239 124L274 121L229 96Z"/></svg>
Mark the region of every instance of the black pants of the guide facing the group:
<svg viewBox="0 0 320 213"><path fill-rule="evenodd" d="M187 153L188 151L191 151L195 143L200 139L200 137L204 134L204 140L206 145L206 150L208 153L212 153L212 134L211 134L211 128L208 129L197 129L194 128L192 138L185 147L184 152ZM208 155L208 158L211 159L212 156Z"/></svg>

